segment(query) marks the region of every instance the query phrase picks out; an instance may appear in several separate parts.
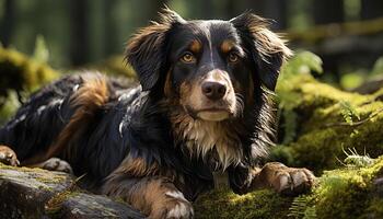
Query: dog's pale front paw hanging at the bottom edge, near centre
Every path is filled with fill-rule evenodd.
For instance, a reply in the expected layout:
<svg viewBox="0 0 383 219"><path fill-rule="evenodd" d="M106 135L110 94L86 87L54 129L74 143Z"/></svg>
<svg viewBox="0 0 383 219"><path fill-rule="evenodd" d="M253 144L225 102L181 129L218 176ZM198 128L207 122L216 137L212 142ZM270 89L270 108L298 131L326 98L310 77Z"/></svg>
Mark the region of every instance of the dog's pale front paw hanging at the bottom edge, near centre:
<svg viewBox="0 0 383 219"><path fill-rule="evenodd" d="M161 206L155 206L149 218L189 219L194 216L192 204L177 191L166 192L167 200Z"/></svg>

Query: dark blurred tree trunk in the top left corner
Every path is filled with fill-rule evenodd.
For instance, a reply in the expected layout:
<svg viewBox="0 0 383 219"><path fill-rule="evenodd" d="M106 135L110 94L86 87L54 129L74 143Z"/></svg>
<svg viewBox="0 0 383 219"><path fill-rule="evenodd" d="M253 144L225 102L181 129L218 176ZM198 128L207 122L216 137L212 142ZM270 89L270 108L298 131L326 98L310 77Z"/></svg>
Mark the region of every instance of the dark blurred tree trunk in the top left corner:
<svg viewBox="0 0 383 219"><path fill-rule="evenodd" d="M5 0L4 2L4 15L0 24L0 42L5 47L8 47L11 43L11 36L13 33L15 19L15 2L16 0Z"/></svg>

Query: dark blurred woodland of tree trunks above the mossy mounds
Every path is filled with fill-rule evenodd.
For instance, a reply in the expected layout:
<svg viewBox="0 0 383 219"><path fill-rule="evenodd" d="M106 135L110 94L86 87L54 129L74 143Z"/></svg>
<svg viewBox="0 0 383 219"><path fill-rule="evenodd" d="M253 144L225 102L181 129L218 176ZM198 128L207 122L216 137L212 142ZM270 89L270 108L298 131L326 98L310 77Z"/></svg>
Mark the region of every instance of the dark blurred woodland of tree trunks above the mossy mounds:
<svg viewBox="0 0 383 219"><path fill-rule="evenodd" d="M33 54L43 36L50 66L82 67L121 55L129 36L163 4L186 19L228 20L246 10L272 19L292 48L324 60L324 77L334 82L369 72L383 54L382 0L0 0L0 42ZM358 76L344 85L359 85Z"/></svg>

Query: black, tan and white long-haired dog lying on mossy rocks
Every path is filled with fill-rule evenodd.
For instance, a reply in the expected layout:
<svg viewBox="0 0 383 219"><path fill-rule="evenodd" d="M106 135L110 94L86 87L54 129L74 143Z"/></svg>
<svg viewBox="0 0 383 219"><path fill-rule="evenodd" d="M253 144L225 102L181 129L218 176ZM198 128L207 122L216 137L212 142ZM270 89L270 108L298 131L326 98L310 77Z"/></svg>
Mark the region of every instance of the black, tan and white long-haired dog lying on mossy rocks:
<svg viewBox="0 0 383 219"><path fill-rule="evenodd" d="M149 218L193 218L213 187L310 189L306 169L257 166L274 139L275 91L291 55L269 22L184 20L164 9L128 42L138 85L69 74L34 93L0 130L0 160L85 174L89 187Z"/></svg>

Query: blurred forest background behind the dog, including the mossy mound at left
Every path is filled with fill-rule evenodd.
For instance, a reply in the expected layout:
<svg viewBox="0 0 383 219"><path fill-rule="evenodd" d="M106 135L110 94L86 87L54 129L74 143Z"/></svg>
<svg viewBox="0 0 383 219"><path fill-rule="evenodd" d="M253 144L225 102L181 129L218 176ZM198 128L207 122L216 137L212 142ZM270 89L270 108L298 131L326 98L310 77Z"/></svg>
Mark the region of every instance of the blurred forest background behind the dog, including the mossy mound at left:
<svg viewBox="0 0 383 219"><path fill-rule="evenodd" d="M0 106L9 95L22 101L23 91L57 72L131 76L125 43L164 4L185 19L229 20L252 10L270 19L297 53L322 59L325 73L313 71L315 78L360 93L383 84L382 0L0 0Z"/></svg>

